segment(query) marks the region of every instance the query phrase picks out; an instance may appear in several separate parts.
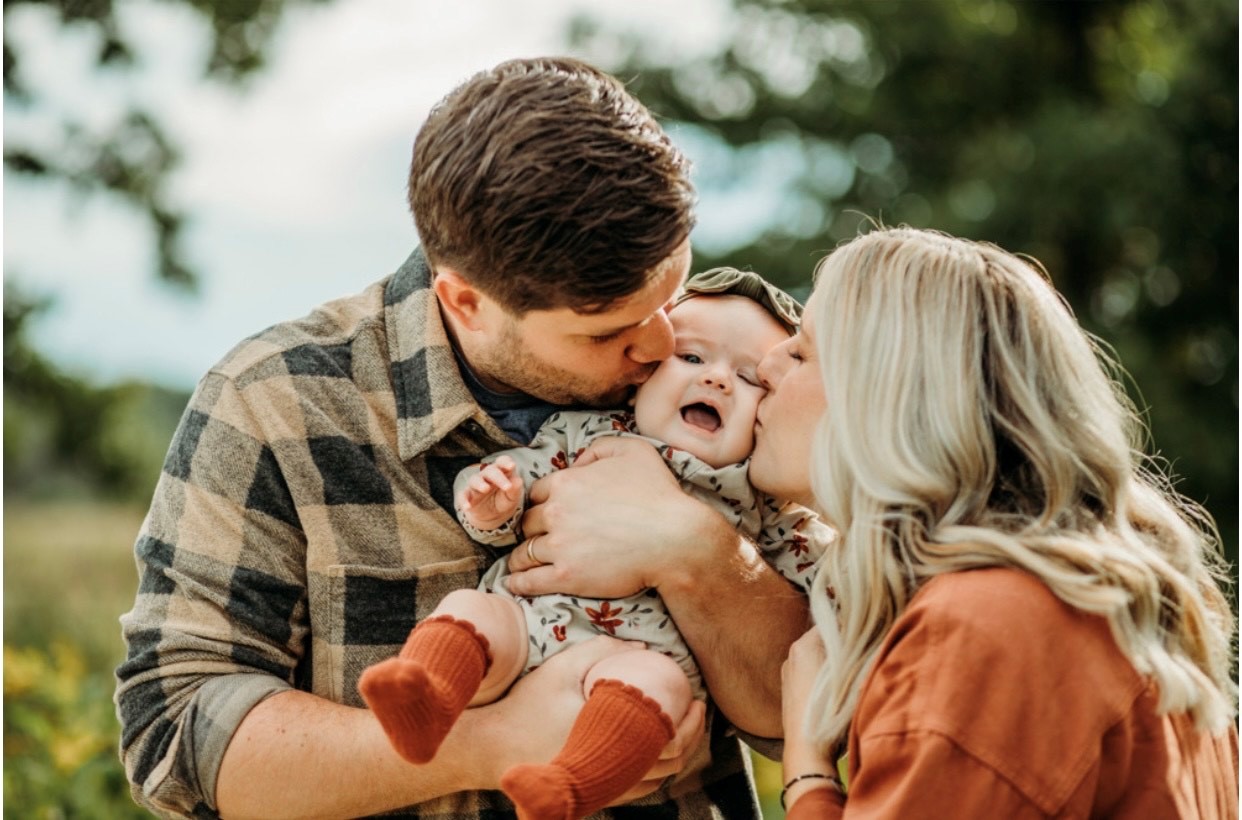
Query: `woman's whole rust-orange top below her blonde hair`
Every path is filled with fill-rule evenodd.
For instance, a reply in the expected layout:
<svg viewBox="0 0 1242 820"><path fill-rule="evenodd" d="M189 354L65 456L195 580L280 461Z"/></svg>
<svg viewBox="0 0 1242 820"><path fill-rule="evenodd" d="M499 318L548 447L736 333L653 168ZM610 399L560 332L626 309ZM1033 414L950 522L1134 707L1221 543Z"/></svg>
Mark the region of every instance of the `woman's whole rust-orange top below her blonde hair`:
<svg viewBox="0 0 1242 820"><path fill-rule="evenodd" d="M943 575L863 685L848 798L807 791L787 816L1237 818L1237 732L1155 704L1104 619L1022 572Z"/></svg>

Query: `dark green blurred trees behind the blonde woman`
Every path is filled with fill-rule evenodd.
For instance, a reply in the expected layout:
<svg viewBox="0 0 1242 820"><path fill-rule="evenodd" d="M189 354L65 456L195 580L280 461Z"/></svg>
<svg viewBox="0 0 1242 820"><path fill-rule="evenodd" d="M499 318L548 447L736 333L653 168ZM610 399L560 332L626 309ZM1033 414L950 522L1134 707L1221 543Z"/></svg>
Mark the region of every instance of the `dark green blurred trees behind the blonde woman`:
<svg viewBox="0 0 1242 820"><path fill-rule="evenodd" d="M1232 0L734 0L684 60L579 19L575 42L728 188L776 155L781 206L696 270L805 293L864 217L1028 253L1118 352L1150 450L1237 557L1238 26ZM764 165L770 166L770 165Z"/></svg>

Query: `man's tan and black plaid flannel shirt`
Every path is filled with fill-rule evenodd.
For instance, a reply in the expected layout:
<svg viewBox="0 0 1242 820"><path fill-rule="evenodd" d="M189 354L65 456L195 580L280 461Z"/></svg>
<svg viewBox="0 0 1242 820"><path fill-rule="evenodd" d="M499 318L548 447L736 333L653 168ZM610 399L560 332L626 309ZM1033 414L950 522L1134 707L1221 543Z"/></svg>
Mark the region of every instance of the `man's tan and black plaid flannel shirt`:
<svg viewBox="0 0 1242 820"><path fill-rule="evenodd" d="M499 555L453 517L457 472L510 440L462 383L430 271L391 277L237 345L199 383L134 547L116 695L134 799L217 816L246 713L289 688L363 706L358 677ZM510 818L499 791L400 816ZM713 721L696 763L600 816L756 818L746 760Z"/></svg>

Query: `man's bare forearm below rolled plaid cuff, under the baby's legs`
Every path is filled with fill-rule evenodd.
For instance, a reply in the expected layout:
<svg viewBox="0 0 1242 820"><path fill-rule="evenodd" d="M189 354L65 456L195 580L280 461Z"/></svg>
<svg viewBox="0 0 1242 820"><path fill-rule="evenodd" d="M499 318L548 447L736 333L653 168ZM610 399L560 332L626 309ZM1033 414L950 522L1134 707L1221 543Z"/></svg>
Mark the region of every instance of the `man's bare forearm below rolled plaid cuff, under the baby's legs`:
<svg viewBox="0 0 1242 820"><path fill-rule="evenodd" d="M631 650L597 637L548 658L496 703L462 712L436 758L424 765L402 760L366 709L306 692L273 695L233 733L216 781L216 805L230 820L356 818L456 791L497 789L509 767L556 754L585 702L587 670Z"/></svg>

